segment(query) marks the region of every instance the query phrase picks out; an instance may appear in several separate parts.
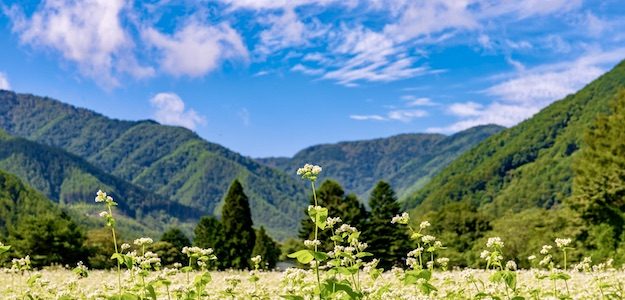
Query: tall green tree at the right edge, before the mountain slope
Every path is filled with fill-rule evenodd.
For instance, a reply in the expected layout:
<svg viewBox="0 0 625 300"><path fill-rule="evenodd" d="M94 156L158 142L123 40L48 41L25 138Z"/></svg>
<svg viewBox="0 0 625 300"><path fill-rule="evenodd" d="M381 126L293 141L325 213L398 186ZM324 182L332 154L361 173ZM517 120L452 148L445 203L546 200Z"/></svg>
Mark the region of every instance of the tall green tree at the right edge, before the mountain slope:
<svg viewBox="0 0 625 300"><path fill-rule="evenodd" d="M612 229L612 236L604 239L612 243L589 245L598 253L625 242L625 90L618 92L610 108L610 114L597 117L587 132L574 164L573 207L590 227L607 223Z"/></svg>

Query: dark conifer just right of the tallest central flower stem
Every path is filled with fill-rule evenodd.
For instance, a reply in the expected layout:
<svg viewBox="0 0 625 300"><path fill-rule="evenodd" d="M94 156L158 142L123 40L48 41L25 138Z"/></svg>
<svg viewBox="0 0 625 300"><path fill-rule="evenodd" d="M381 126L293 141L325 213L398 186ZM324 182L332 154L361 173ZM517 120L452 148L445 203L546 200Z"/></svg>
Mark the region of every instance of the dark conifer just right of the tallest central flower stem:
<svg viewBox="0 0 625 300"><path fill-rule="evenodd" d="M380 260L381 268L401 265L411 249L406 228L391 224L393 216L401 213L395 191L388 183L378 182L369 197L369 206L371 215L364 232L369 244L366 251Z"/></svg>

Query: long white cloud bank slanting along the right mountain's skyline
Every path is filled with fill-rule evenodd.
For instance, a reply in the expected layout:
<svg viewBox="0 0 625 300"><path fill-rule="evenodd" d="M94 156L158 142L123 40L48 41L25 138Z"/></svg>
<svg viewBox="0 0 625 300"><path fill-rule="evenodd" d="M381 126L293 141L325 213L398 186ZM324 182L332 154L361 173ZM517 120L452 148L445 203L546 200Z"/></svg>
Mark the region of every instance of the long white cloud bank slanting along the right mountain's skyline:
<svg viewBox="0 0 625 300"><path fill-rule="evenodd" d="M450 113L460 120L428 132L457 132L482 124L513 126L533 116L553 101L581 89L607 67L622 59L624 48L590 52L574 61L535 67L516 73L484 91L495 100L488 105L474 102L454 103Z"/></svg>

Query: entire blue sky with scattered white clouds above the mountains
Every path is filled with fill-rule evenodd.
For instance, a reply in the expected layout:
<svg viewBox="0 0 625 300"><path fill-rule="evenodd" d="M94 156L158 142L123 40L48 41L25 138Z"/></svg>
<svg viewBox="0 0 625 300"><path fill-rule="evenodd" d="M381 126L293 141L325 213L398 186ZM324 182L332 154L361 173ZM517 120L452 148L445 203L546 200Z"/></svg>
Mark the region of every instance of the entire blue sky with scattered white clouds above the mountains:
<svg viewBox="0 0 625 300"><path fill-rule="evenodd" d="M253 157L512 126L625 58L622 0L0 5L0 88Z"/></svg>

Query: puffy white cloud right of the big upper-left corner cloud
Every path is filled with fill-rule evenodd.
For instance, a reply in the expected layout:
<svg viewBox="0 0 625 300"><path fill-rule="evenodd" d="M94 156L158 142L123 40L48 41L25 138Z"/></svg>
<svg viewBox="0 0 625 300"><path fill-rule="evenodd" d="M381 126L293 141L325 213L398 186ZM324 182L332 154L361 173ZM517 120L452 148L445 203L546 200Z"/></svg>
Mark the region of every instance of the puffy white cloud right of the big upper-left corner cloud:
<svg viewBox="0 0 625 300"><path fill-rule="evenodd" d="M147 28L143 37L160 51L161 68L176 76L202 76L224 60L248 57L241 36L227 23L211 26L192 21L173 36Z"/></svg>

